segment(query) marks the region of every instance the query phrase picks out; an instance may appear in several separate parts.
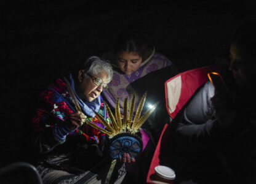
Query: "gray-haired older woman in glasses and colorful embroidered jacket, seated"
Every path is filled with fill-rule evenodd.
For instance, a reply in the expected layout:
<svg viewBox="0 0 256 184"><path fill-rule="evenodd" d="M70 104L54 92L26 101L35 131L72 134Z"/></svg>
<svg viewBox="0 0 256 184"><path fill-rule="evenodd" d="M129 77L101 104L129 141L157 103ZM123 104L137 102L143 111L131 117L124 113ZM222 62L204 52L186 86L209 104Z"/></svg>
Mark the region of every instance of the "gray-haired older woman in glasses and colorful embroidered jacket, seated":
<svg viewBox="0 0 256 184"><path fill-rule="evenodd" d="M44 183L105 180L111 163L103 156L105 134L85 122L105 128L95 112L110 122L100 93L112 77L110 63L92 56L78 72L55 80L40 94L26 156Z"/></svg>

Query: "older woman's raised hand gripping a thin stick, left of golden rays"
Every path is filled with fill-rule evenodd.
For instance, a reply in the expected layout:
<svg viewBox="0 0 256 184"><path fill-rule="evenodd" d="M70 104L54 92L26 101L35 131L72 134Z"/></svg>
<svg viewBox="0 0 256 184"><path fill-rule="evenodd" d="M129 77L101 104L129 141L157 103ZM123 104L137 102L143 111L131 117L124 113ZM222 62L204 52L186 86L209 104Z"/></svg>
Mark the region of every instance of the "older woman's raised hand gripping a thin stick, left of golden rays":
<svg viewBox="0 0 256 184"><path fill-rule="evenodd" d="M74 113L71 113L70 116L66 119L66 125L68 128L74 130L81 126L84 121L86 121L86 115L84 113L76 111Z"/></svg>

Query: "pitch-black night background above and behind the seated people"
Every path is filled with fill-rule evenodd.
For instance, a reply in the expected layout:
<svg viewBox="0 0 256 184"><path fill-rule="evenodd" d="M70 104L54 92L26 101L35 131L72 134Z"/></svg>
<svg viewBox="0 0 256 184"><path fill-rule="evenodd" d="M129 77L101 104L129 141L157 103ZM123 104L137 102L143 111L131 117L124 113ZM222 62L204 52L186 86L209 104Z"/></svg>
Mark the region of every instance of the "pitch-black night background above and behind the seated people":
<svg viewBox="0 0 256 184"><path fill-rule="evenodd" d="M228 58L234 28L254 12L253 0L1 1L0 167L18 160L34 96L121 31L140 29L182 72Z"/></svg>

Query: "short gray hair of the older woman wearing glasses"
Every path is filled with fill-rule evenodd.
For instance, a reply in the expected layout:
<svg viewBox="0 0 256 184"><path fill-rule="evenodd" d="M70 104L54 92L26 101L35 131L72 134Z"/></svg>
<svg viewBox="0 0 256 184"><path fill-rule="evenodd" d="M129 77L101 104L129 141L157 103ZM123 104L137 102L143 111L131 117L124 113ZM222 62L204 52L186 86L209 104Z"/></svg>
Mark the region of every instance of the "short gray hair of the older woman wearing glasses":
<svg viewBox="0 0 256 184"><path fill-rule="evenodd" d="M88 77L86 73L90 75L96 75L102 72L108 75L108 78L106 79L107 83L109 83L113 78L113 69L109 61L106 59L98 58L97 56L90 56L86 60L86 63L84 63L82 69L85 72L84 78Z"/></svg>

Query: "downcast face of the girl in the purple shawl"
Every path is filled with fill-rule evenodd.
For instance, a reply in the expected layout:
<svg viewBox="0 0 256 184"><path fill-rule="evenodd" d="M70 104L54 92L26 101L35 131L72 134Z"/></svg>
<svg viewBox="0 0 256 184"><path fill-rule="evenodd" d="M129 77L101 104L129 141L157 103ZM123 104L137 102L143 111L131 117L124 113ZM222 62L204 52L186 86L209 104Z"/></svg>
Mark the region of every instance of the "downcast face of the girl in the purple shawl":
<svg viewBox="0 0 256 184"><path fill-rule="evenodd" d="M127 75L137 71L142 64L142 57L134 52L122 51L117 56L119 69Z"/></svg>

